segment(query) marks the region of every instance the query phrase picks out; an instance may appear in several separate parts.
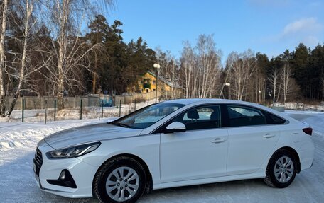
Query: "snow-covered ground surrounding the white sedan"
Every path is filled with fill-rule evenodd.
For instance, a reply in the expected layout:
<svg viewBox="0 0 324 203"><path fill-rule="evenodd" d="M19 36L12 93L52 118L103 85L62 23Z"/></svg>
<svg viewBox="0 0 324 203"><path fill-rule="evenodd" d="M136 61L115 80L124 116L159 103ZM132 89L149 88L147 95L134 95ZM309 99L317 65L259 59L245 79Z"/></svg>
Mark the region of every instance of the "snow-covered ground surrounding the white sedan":
<svg viewBox="0 0 324 203"><path fill-rule="evenodd" d="M286 111L313 127L313 167L296 176L285 189L268 187L262 180L241 180L209 185L155 190L139 202L323 202L324 113ZM0 202L98 202L97 199L68 199L41 192L33 180L32 160L38 141L58 130L109 119L58 122L0 122Z"/></svg>

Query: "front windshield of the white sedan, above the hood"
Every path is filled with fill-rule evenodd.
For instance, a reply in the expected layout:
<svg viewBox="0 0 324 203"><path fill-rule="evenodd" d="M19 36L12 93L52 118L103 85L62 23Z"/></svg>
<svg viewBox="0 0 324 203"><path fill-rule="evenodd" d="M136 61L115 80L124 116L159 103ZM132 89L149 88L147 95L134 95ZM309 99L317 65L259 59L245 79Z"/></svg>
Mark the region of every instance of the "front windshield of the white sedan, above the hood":
<svg viewBox="0 0 324 203"><path fill-rule="evenodd" d="M178 103L158 103L137 110L136 112L132 112L111 124L119 125L121 127L144 129L183 106L183 104Z"/></svg>

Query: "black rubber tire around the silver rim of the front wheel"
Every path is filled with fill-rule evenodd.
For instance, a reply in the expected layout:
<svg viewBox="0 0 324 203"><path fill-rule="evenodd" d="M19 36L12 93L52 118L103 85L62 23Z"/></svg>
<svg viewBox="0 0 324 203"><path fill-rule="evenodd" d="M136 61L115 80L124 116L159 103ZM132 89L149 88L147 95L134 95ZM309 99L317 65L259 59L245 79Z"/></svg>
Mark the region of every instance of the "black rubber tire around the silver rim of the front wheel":
<svg viewBox="0 0 324 203"><path fill-rule="evenodd" d="M113 199L111 196L114 195L113 193L115 191L113 190L113 191L109 192L109 194L108 194L107 189L106 189L107 178L110 178L109 180L112 180L112 178L117 179L116 176L113 174L113 172L119 168L130 168L131 170L134 170L134 172L138 175L138 179L136 179L136 181L139 182L139 185L138 185L138 188L136 189L136 192L133 195L131 195L131 193L126 190L126 187L129 187L129 189L134 191L134 189L131 188L131 184L134 183L134 182L131 183L131 181L134 181L134 180L129 180L129 186L121 185L121 183L119 183L118 188L114 189L114 190L116 190L116 193L115 193L115 195L116 195L118 190L121 191L121 189L120 189L121 187L119 187L119 186L124 186L124 189L123 189L124 197L127 197L127 196L129 197L129 198L125 198L124 200ZM128 173L130 173L131 170L128 170ZM124 171L123 173L127 173L127 169L123 169L123 171ZM94 184L93 184L94 195L97 197L97 199L99 199L100 202L114 202L114 203L136 202L136 200L139 199L139 197L141 197L141 195L143 195L144 190L145 190L145 186L146 186L146 175L145 174L146 173L145 173L143 166L141 166L141 164L138 161L136 161L134 158L129 158L129 157L125 157L125 156L113 158L112 160L104 163L97 171L97 174L96 174L95 180L94 180ZM117 175L120 175L120 174L118 173ZM117 182L118 180L113 180L113 181ZM124 181L123 181L123 184L125 184ZM112 188L115 186L110 186L110 187ZM128 194L127 194L127 192L128 192Z"/></svg>

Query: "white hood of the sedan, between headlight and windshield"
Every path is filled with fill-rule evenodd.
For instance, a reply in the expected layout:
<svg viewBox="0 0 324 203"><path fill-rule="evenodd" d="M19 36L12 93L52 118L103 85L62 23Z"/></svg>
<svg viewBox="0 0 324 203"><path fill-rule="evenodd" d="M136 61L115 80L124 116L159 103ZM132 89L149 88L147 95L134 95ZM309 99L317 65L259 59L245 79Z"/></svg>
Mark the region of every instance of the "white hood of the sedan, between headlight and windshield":
<svg viewBox="0 0 324 203"><path fill-rule="evenodd" d="M91 141L118 139L141 134L142 129L118 127L112 124L89 124L82 127L65 129L51 134L43 140L54 149L83 144Z"/></svg>

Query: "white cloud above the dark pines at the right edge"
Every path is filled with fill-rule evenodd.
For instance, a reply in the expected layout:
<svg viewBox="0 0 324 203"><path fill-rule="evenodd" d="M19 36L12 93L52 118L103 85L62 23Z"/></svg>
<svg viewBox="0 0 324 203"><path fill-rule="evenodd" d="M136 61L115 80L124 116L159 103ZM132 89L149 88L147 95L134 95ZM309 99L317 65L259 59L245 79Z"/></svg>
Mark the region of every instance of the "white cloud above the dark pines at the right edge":
<svg viewBox="0 0 324 203"><path fill-rule="evenodd" d="M281 33L281 37L288 37L296 34L313 34L318 33L322 30L323 25L318 23L316 18L302 18L298 21L294 21L293 23L288 23L285 26L284 31Z"/></svg>

